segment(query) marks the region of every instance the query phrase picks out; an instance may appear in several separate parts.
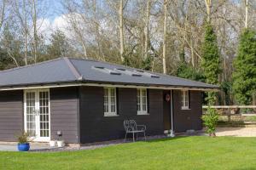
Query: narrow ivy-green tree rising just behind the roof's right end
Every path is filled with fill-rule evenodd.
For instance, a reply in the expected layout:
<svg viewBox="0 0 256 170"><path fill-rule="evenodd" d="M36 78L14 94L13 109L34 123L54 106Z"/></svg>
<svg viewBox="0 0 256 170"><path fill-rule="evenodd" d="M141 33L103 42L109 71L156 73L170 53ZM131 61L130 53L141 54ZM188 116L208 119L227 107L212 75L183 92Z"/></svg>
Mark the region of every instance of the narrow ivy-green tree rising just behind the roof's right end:
<svg viewBox="0 0 256 170"><path fill-rule="evenodd" d="M206 82L218 84L218 75L220 73L220 57L218 52L217 36L213 31L212 25L207 23L205 27L204 42L201 47L202 62L201 66L206 77ZM207 94L208 105L213 105L216 101L217 93L209 92Z"/></svg>

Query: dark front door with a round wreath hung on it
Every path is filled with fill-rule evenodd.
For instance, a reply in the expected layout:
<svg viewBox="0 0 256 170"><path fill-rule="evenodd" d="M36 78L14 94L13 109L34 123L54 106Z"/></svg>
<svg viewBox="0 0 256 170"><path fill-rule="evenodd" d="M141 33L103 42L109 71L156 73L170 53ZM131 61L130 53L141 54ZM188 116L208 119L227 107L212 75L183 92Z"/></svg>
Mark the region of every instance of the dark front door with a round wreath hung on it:
<svg viewBox="0 0 256 170"><path fill-rule="evenodd" d="M164 103L163 103L163 109L164 109L164 129L170 130L172 128L171 126L171 91L170 90L164 90L163 94Z"/></svg>

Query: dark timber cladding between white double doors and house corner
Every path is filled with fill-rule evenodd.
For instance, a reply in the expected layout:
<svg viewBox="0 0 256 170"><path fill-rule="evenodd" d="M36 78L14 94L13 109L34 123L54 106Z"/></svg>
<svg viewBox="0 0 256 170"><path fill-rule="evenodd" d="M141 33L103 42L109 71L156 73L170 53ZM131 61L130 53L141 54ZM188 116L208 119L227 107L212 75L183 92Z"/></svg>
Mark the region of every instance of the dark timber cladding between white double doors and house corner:
<svg viewBox="0 0 256 170"><path fill-rule="evenodd" d="M50 88L51 139L56 139L57 131L61 131L65 142L79 143L78 89Z"/></svg>

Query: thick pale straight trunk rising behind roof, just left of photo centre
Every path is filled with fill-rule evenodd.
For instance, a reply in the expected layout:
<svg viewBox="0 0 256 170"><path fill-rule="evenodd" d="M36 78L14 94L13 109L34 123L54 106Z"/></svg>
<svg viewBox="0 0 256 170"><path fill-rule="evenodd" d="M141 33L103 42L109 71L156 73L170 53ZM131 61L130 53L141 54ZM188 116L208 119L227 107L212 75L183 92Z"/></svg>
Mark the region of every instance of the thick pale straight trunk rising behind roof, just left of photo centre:
<svg viewBox="0 0 256 170"><path fill-rule="evenodd" d="M124 18L123 18L123 0L120 0L119 4L119 38L120 38L120 57L121 61L124 62Z"/></svg>

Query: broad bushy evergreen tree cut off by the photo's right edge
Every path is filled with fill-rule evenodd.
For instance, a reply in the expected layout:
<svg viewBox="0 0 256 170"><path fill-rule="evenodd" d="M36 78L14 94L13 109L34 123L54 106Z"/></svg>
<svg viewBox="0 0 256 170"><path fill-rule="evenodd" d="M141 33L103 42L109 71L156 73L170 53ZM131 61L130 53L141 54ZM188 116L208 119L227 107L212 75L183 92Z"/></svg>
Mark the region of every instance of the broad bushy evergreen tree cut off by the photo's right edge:
<svg viewBox="0 0 256 170"><path fill-rule="evenodd" d="M250 29L242 31L233 65L235 98L241 105L250 105L256 91L256 31Z"/></svg>

